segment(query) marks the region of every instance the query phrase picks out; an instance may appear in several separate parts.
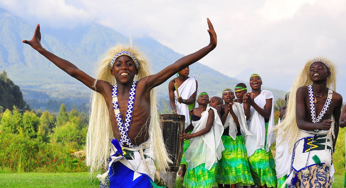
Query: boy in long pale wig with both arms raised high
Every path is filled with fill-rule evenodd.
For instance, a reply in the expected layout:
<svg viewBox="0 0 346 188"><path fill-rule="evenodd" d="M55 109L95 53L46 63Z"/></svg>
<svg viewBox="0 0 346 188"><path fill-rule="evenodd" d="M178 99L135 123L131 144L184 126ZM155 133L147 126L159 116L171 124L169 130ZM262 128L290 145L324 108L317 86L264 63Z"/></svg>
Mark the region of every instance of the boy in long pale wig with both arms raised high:
<svg viewBox="0 0 346 188"><path fill-rule="evenodd" d="M118 45L111 48L100 62L95 79L71 62L44 49L40 42L39 24L33 38L23 41L96 91L91 102L86 164L90 172L106 167L107 171L98 175L102 185L109 176L110 187L149 188L154 185L155 165L161 170L168 167L170 160L163 144L152 89L216 47L216 33L207 20L210 36L208 46L177 60L155 75L150 75L146 59L133 47ZM115 139L110 143L112 138Z"/></svg>

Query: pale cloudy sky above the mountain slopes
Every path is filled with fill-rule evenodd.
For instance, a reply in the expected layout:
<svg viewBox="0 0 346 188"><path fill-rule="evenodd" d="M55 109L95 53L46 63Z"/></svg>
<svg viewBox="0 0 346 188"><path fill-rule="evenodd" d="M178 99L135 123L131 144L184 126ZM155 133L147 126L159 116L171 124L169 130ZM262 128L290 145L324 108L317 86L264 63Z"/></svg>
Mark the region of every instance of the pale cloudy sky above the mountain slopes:
<svg viewBox="0 0 346 188"><path fill-rule="evenodd" d="M125 36L150 36L184 55L209 43L209 18L218 46L200 62L240 80L258 73L277 89L288 90L303 64L317 56L337 63L339 77L346 68L344 0L1 0L0 7L33 27L98 22Z"/></svg>

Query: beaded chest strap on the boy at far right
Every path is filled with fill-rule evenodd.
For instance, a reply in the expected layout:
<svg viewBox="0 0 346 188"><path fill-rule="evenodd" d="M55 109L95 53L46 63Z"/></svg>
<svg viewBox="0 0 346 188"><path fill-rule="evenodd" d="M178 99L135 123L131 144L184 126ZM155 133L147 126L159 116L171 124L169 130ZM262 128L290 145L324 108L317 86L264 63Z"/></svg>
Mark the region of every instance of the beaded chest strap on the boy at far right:
<svg viewBox="0 0 346 188"><path fill-rule="evenodd" d="M328 88L328 98L326 100L324 107L322 108L321 112L319 113L317 117L316 117L316 109L315 109L315 94L313 94L312 85L308 85L308 92L309 92L311 121L313 123L318 123L321 121L322 117L325 115L325 113L329 109L329 106L331 104L331 98L333 97L333 90ZM315 130L315 132L318 132L318 131L319 130Z"/></svg>

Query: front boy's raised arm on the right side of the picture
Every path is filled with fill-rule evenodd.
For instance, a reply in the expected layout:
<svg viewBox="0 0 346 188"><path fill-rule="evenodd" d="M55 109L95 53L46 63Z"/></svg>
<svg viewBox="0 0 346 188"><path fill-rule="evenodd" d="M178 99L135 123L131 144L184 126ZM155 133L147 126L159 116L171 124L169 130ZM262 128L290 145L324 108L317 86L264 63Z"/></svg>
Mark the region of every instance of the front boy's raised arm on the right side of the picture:
<svg viewBox="0 0 346 188"><path fill-rule="evenodd" d="M147 87L149 89L152 89L158 85L161 85L167 79L172 77L175 73L183 70L187 66L190 66L192 63L195 63L198 60L202 59L204 56L206 56L209 52L211 52L216 47L216 44L217 44L216 33L214 31L214 28L210 20L207 19L207 21L209 26L208 32L210 36L210 42L208 46L198 50L197 52L194 52L190 55L180 58L179 60L175 61L172 65L164 68L163 70L156 73L155 75L149 76L146 81Z"/></svg>

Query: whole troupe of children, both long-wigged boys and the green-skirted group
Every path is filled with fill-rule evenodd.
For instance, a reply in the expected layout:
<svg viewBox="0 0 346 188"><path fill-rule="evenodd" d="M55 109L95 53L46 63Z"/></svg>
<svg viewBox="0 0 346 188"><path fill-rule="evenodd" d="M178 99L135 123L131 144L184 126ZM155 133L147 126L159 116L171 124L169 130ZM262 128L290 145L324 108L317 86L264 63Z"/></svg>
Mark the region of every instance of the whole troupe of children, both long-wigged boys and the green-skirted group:
<svg viewBox="0 0 346 188"><path fill-rule="evenodd" d="M188 77L189 65L217 46L216 32L207 22L210 42L206 47L153 75L146 58L132 46L109 49L93 78L43 48L39 24L33 38L23 42L93 90L86 165L91 174L105 169L97 175L100 187L158 187L155 170L164 171L172 161L164 146L153 89L176 72L169 83L170 105L186 119L179 171L185 187L207 188L216 183L219 187L331 187L342 107L342 96L335 92L334 64L317 58L304 65L282 109L282 121L274 127L274 97L271 91L261 90L259 75L250 76L252 92L239 83L234 91L222 91L223 101L200 93L197 80ZM345 109L341 127L345 127L344 116ZM280 173L271 153L274 132Z"/></svg>

